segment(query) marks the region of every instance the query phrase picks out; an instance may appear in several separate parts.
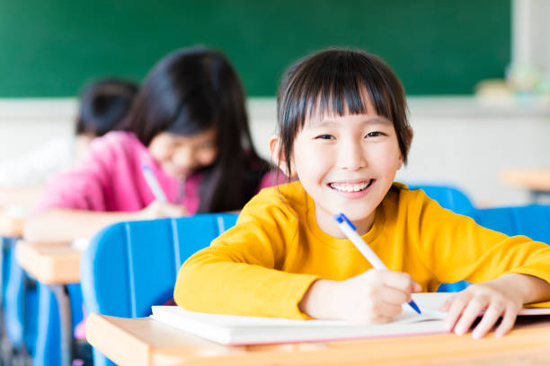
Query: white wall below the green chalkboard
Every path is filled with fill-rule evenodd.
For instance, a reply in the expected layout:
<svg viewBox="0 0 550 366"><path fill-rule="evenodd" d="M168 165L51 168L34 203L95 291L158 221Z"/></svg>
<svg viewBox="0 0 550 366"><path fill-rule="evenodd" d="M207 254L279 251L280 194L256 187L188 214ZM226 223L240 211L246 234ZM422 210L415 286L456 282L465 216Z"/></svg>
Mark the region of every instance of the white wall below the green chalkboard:
<svg viewBox="0 0 550 366"><path fill-rule="evenodd" d="M454 184L483 205L519 205L528 202L527 193L502 184L501 170L550 169L547 100L497 106L473 97L412 97L409 107L414 139L409 164L398 179ZM254 144L268 158L275 100L250 100L249 113ZM75 100L0 100L0 156L72 134L74 116Z"/></svg>

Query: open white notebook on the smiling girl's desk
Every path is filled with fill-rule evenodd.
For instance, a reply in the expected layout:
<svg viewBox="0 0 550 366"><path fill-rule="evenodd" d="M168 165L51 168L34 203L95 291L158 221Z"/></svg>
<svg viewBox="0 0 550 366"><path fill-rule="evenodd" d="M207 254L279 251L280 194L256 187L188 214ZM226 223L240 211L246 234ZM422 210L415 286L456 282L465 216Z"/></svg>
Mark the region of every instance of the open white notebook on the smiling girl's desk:
<svg viewBox="0 0 550 366"><path fill-rule="evenodd" d="M353 338L448 333L439 307L452 293L415 293L422 315L404 304L394 321L360 325L338 320L291 320L206 314L177 306L154 306L151 318L220 344L277 344L322 342ZM523 309L523 315L550 314L550 308Z"/></svg>

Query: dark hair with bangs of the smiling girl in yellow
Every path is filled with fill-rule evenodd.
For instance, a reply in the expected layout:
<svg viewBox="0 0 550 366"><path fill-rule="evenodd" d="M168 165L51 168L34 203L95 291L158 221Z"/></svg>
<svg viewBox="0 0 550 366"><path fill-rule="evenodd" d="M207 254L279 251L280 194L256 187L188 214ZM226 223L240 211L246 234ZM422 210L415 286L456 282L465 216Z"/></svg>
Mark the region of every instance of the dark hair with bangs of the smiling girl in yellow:
<svg viewBox="0 0 550 366"><path fill-rule="evenodd" d="M367 113L367 96L376 112L391 120L404 163L412 141L404 87L380 58L364 51L331 48L291 65L277 95L280 154L288 175L294 139L306 118Z"/></svg>

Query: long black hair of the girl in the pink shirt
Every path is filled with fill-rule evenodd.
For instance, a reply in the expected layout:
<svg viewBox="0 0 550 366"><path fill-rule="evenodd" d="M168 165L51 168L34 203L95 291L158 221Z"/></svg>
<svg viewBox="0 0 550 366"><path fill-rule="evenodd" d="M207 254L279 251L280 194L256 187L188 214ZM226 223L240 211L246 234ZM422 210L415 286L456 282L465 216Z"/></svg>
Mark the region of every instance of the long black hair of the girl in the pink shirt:
<svg viewBox="0 0 550 366"><path fill-rule="evenodd" d="M195 135L216 128L216 161L200 170L199 213L241 209L270 168L253 148L241 82L216 50L183 48L161 59L124 127L146 146L162 132Z"/></svg>

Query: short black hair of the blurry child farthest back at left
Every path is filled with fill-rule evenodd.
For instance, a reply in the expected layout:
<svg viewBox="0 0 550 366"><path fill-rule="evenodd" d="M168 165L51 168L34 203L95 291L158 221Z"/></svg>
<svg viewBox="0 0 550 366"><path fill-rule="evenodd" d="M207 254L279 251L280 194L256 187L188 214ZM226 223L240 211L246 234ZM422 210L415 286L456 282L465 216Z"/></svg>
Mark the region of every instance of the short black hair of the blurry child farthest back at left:
<svg viewBox="0 0 550 366"><path fill-rule="evenodd" d="M116 78L87 85L80 97L75 134L102 136L118 129L136 95L136 83Z"/></svg>

